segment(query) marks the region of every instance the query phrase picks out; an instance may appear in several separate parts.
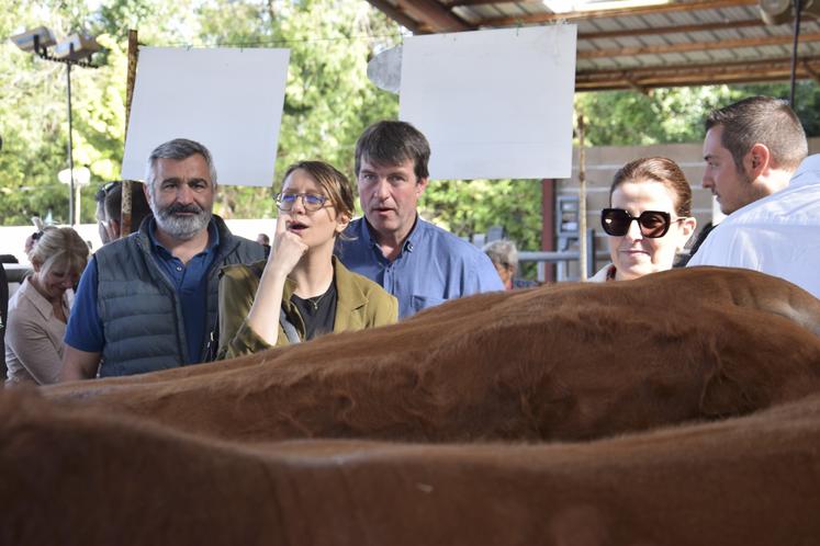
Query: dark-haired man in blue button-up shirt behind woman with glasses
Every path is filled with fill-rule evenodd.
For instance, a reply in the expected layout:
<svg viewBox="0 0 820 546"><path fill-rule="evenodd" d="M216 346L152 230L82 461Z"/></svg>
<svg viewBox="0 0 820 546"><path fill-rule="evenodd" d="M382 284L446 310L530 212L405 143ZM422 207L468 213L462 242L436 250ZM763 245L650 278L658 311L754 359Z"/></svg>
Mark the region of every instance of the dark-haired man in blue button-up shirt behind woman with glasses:
<svg viewBox="0 0 820 546"><path fill-rule="evenodd" d="M400 318L447 299L504 289L486 254L418 216L429 158L427 138L406 122L375 123L356 144L364 218L350 223L337 255L393 294Z"/></svg>

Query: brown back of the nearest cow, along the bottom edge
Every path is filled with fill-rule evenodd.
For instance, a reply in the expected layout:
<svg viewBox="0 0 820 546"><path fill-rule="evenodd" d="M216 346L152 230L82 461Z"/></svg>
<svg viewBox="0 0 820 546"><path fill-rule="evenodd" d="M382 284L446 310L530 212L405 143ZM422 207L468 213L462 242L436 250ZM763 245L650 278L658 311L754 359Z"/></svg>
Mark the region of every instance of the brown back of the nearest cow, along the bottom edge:
<svg viewBox="0 0 820 546"><path fill-rule="evenodd" d="M566 444L240 444L0 393L0 544L813 545L820 397Z"/></svg>

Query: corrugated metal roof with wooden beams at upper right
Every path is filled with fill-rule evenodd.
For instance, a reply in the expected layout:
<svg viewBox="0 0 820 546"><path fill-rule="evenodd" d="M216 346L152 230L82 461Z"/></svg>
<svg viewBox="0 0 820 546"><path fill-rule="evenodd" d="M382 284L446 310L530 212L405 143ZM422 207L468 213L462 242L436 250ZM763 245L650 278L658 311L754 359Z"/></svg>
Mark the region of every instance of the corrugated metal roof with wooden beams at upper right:
<svg viewBox="0 0 820 546"><path fill-rule="evenodd" d="M579 25L579 91L788 80L793 23L766 25L757 0L687 0L554 14L541 1L368 0L414 33ZM820 2L816 2L820 3ZM820 81L820 8L801 24L798 78Z"/></svg>

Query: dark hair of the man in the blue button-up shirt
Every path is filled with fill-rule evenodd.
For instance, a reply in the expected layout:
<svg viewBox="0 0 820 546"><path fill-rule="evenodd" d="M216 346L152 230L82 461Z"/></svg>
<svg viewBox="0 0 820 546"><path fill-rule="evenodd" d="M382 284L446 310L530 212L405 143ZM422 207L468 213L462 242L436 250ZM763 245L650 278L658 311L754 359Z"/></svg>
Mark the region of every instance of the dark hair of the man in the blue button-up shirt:
<svg viewBox="0 0 820 546"><path fill-rule="evenodd" d="M430 144L427 138L407 122L377 122L361 134L356 143L356 177L359 177L362 160L378 164L398 164L413 161L416 179L430 175Z"/></svg>

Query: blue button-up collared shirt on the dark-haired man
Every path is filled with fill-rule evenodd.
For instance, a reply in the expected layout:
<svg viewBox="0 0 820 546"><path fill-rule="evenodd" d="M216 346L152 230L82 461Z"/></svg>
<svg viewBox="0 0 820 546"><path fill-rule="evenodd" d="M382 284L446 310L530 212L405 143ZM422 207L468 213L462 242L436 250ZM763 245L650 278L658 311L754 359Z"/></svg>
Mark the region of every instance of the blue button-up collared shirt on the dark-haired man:
<svg viewBox="0 0 820 546"><path fill-rule="evenodd" d="M345 236L336 255L347 269L393 294L400 318L447 299L504 289L484 252L419 217L392 262L384 258L364 218L351 221Z"/></svg>

